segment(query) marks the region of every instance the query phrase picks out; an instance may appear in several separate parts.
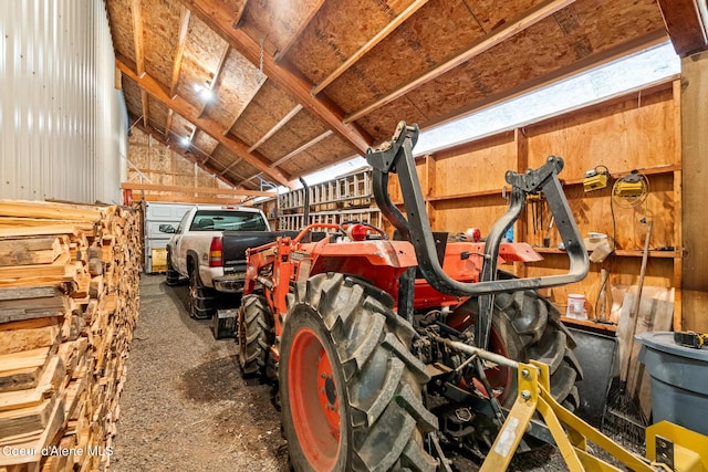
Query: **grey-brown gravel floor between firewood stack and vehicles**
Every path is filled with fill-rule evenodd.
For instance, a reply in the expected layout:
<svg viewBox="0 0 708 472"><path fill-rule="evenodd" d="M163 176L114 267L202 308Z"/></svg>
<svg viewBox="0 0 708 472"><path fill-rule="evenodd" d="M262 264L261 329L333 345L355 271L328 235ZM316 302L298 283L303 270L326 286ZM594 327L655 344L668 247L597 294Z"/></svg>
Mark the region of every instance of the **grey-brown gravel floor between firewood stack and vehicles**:
<svg viewBox="0 0 708 472"><path fill-rule="evenodd" d="M289 471L271 386L244 381L233 339L191 319L187 286L143 275L140 316L127 360L112 470ZM459 471L479 464L449 454ZM552 445L514 458L509 470L564 471Z"/></svg>

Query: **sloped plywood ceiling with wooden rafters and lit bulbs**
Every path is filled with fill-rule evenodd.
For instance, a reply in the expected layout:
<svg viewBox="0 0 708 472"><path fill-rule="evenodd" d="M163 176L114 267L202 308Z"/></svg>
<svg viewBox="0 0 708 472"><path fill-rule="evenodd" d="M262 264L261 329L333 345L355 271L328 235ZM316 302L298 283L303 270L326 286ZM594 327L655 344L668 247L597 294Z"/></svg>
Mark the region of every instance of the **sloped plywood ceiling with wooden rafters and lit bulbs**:
<svg viewBox="0 0 708 472"><path fill-rule="evenodd" d="M398 120L435 125L668 33L683 48L705 49L690 4L110 0L106 8L132 124L252 189L363 154ZM686 14L698 18L688 31L677 20Z"/></svg>

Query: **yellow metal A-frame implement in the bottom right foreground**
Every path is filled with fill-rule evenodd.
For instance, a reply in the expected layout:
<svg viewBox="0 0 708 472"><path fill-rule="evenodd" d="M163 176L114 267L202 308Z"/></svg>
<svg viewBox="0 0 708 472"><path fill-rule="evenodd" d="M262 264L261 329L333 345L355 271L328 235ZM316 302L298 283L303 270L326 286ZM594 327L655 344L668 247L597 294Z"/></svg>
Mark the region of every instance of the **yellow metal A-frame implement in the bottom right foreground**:
<svg viewBox="0 0 708 472"><path fill-rule="evenodd" d="M520 363L518 376L519 397L480 469L482 472L507 470L537 411L543 417L571 472L622 470L589 452L587 440L633 471L708 472L707 437L668 422L654 424L647 429L648 459L645 459L627 451L561 407L549 394L551 388L546 365L534 360L530 364Z"/></svg>

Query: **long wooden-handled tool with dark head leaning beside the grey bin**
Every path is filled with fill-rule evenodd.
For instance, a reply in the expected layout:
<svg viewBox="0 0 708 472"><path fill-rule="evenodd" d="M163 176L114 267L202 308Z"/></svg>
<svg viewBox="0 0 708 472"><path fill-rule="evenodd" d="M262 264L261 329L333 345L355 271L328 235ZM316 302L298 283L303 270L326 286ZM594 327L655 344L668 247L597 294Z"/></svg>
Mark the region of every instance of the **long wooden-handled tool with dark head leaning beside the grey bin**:
<svg viewBox="0 0 708 472"><path fill-rule="evenodd" d="M627 378L632 365L632 350L634 349L634 335L637 331L639 319L639 303L642 302L642 291L644 289L644 277L646 275L646 264L649 259L649 240L652 238L653 222L647 223L646 239L644 240L644 253L642 254L642 269L639 270L639 286L637 295L632 304L631 315L632 336L629 338L629 349L626 355L625 369L621 373L620 385L613 382L610 389L607 408L603 415L602 428L604 431L623 437L634 444L642 444L645 440L646 419L634 399L634 391L627 389ZM636 385L636 382L635 382Z"/></svg>

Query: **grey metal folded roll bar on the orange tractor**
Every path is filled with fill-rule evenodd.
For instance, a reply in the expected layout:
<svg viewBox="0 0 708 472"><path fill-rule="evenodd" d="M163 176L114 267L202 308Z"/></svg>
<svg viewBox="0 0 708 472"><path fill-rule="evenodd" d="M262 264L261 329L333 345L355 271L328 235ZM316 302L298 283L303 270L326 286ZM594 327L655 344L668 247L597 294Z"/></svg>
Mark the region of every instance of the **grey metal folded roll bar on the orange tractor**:
<svg viewBox="0 0 708 472"><path fill-rule="evenodd" d="M392 140L384 143L378 149L369 148L366 160L373 167L374 197L378 208L404 239L413 243L420 272L434 289L456 296L480 296L480 311L491 313L493 294L496 293L565 285L585 277L590 266L587 252L558 179L558 174L563 169L563 159L554 156L549 157L540 168L530 169L525 174L507 171L507 182L512 186L509 208L492 227L487 238L480 282L465 283L447 275L438 261L430 220L425 209L425 199L416 174L413 148L418 140L418 134L417 125L406 126L405 122L400 122ZM391 201L388 195L388 175L391 172L398 174L407 219ZM497 280L497 258L501 238L521 214L525 204L525 196L539 190L545 193L551 213L565 245L570 259L569 272L562 275ZM490 316L483 316L482 319L485 321L481 323L482 325L491 322ZM482 326L481 333L478 333L477 342L480 347L487 346L488 332L489 328Z"/></svg>

